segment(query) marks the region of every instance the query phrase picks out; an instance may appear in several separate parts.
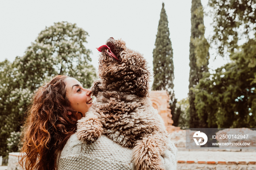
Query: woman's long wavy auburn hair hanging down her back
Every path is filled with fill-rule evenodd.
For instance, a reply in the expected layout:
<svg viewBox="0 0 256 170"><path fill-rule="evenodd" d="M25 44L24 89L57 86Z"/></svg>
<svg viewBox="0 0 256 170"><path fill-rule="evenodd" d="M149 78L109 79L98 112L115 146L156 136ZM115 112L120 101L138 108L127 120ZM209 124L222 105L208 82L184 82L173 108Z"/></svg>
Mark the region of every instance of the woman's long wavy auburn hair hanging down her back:
<svg viewBox="0 0 256 170"><path fill-rule="evenodd" d="M65 78L58 75L35 93L19 155L19 163L26 170L57 169L58 155L76 131L77 112L66 97Z"/></svg>

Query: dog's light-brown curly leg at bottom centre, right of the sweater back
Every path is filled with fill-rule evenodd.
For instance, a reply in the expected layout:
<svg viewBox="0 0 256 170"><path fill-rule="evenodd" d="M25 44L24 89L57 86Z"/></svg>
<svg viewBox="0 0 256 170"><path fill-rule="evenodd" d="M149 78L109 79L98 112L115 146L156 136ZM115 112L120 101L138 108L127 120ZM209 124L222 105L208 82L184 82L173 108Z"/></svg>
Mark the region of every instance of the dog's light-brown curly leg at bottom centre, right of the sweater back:
<svg viewBox="0 0 256 170"><path fill-rule="evenodd" d="M153 132L136 142L132 150L132 162L136 170L164 170L161 155L166 149L166 137L159 132Z"/></svg>

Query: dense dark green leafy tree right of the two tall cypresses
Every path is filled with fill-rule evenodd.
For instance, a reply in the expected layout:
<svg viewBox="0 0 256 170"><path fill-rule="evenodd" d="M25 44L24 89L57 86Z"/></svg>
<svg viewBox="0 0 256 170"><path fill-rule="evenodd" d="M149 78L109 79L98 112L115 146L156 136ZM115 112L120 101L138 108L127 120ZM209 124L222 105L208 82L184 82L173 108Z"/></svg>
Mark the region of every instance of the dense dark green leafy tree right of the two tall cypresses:
<svg viewBox="0 0 256 170"><path fill-rule="evenodd" d="M251 41L231 54L232 62L218 68L214 74L206 74L194 89L200 121L206 120L209 128L256 126L256 66L252 67L247 57L250 55L248 46L254 44L255 49L256 40Z"/></svg>

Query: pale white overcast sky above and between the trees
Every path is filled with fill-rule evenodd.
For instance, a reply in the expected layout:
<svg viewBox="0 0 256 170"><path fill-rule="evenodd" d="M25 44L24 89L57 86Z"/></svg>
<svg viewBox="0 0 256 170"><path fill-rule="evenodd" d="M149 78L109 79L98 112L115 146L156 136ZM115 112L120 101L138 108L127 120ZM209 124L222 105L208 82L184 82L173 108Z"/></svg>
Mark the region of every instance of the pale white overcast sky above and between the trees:
<svg viewBox="0 0 256 170"><path fill-rule="evenodd" d="M96 68L99 52L95 48L113 37L123 39L127 47L144 54L152 72L162 2L173 48L174 92L181 100L188 95L191 0L1 0L0 62L23 56L45 27L67 21L89 33L86 48L92 51L90 57ZM202 0L204 7L207 3L208 0ZM210 23L211 19L205 17L206 38L211 32ZM210 69L226 62L222 58L213 61L214 51L210 53Z"/></svg>

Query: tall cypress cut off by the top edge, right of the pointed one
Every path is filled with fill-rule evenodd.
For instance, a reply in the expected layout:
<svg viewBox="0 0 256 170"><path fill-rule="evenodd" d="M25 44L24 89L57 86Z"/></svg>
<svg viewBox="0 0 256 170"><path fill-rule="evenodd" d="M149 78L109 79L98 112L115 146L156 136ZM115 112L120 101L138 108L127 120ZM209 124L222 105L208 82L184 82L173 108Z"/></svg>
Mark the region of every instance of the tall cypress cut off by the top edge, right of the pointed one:
<svg viewBox="0 0 256 170"><path fill-rule="evenodd" d="M192 0L189 47L189 127L203 128L206 126L205 120L199 121L194 103L195 92L192 90L203 77L203 73L208 72L209 45L204 38L203 7L200 0Z"/></svg>

